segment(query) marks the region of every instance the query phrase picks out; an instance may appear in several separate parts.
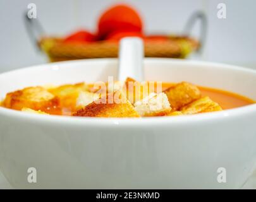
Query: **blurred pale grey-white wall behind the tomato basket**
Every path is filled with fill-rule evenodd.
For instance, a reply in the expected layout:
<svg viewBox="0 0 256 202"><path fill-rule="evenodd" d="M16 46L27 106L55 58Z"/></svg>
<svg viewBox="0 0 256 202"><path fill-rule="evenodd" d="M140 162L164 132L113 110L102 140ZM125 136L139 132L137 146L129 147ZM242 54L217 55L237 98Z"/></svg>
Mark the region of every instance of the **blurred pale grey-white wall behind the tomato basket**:
<svg viewBox="0 0 256 202"><path fill-rule="evenodd" d="M142 16L145 33L183 31L193 12L208 19L207 40L200 56L204 61L256 68L255 0L0 0L0 72L48 62L31 43L24 25L27 6L37 6L37 19L47 35L65 36L79 28L97 29L99 15L116 3L127 3ZM217 4L226 4L226 19L217 18ZM198 26L193 30L197 37Z"/></svg>

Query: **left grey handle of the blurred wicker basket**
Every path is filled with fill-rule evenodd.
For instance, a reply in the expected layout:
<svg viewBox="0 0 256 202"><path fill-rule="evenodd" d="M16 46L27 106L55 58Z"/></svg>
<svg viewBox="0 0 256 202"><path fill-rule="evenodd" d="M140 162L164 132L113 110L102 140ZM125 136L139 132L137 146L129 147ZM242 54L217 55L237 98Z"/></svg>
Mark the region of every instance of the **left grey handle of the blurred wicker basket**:
<svg viewBox="0 0 256 202"><path fill-rule="evenodd" d="M40 50L38 41L42 35L44 35L44 29L42 28L37 18L29 18L27 12L25 12L24 23L28 33L30 41L35 46L35 49Z"/></svg>

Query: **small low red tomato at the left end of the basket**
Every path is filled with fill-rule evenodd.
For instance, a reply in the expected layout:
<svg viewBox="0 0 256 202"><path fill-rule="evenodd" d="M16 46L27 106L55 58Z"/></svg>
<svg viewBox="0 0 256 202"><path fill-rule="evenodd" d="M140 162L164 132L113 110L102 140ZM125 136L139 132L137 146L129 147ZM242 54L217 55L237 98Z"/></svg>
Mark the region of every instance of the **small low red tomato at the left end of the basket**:
<svg viewBox="0 0 256 202"><path fill-rule="evenodd" d="M80 30L66 37L64 42L94 42L95 39L96 37L92 33Z"/></svg>

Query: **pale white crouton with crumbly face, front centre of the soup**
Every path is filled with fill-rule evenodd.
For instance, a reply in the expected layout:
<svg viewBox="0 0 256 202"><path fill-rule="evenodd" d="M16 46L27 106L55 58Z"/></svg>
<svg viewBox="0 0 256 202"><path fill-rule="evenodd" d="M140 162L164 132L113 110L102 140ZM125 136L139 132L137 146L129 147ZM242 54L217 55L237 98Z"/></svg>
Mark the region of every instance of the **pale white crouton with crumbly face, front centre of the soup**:
<svg viewBox="0 0 256 202"><path fill-rule="evenodd" d="M140 116L152 116L162 110L171 110L165 93L150 93L148 97L135 102L134 106Z"/></svg>

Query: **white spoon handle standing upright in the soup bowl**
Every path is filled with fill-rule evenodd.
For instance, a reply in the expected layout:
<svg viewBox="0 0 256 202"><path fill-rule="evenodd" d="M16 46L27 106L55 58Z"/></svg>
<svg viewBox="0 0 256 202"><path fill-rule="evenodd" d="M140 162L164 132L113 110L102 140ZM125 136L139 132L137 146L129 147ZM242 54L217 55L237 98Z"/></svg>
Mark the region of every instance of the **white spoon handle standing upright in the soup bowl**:
<svg viewBox="0 0 256 202"><path fill-rule="evenodd" d="M127 77L143 81L143 42L138 37L125 37L119 46L118 80L125 81Z"/></svg>

